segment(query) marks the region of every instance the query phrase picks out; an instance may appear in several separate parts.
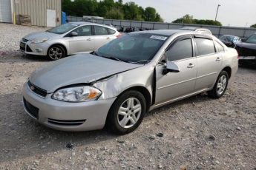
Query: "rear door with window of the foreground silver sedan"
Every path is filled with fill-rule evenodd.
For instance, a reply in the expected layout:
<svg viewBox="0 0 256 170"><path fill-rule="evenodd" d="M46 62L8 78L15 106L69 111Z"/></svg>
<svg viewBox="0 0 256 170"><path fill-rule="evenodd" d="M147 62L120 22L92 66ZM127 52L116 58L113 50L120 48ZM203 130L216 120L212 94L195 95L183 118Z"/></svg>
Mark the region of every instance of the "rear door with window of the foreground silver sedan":
<svg viewBox="0 0 256 170"><path fill-rule="evenodd" d="M210 88L220 73L223 52L218 52L211 37L194 35L197 55L197 81L195 90ZM217 43L217 42L216 42Z"/></svg>

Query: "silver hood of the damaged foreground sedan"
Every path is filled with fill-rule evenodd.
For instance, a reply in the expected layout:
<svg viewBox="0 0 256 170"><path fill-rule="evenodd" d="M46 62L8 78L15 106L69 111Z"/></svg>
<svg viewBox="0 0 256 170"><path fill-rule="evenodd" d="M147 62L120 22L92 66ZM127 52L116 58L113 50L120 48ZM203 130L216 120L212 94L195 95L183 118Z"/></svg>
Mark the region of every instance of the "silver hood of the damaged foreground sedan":
<svg viewBox="0 0 256 170"><path fill-rule="evenodd" d="M47 93L52 93L62 86L89 84L141 66L91 54L78 54L52 61L47 66L36 69L29 79L35 86L47 90Z"/></svg>

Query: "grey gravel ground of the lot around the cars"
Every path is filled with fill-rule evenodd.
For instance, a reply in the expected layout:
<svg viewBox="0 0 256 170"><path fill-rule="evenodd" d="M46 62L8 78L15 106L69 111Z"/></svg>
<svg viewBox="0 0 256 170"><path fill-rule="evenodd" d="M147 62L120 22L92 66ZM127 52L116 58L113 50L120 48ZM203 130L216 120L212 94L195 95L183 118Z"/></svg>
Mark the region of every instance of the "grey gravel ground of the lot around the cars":
<svg viewBox="0 0 256 170"><path fill-rule="evenodd" d="M0 169L256 169L256 69L240 67L223 98L149 112L128 135L59 132L22 107L22 84L49 61L23 56L17 42L38 30L0 24Z"/></svg>

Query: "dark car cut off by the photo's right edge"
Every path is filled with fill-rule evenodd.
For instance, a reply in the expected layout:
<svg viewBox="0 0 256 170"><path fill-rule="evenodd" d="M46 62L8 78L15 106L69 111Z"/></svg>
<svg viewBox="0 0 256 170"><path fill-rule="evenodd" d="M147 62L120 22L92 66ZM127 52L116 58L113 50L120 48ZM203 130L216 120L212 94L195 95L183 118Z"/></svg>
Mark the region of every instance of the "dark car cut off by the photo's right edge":
<svg viewBox="0 0 256 170"><path fill-rule="evenodd" d="M239 55L239 64L256 66L256 33L249 36L245 41L237 43L235 49Z"/></svg>

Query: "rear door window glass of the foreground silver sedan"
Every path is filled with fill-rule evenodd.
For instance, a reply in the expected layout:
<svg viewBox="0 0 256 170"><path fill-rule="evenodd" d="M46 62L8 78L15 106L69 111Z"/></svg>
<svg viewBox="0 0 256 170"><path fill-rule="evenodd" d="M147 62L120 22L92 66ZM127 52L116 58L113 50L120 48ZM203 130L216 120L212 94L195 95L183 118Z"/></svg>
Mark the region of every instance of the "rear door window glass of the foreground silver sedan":
<svg viewBox="0 0 256 170"><path fill-rule="evenodd" d="M197 56L208 55L215 52L214 43L207 38L194 38L197 44Z"/></svg>

